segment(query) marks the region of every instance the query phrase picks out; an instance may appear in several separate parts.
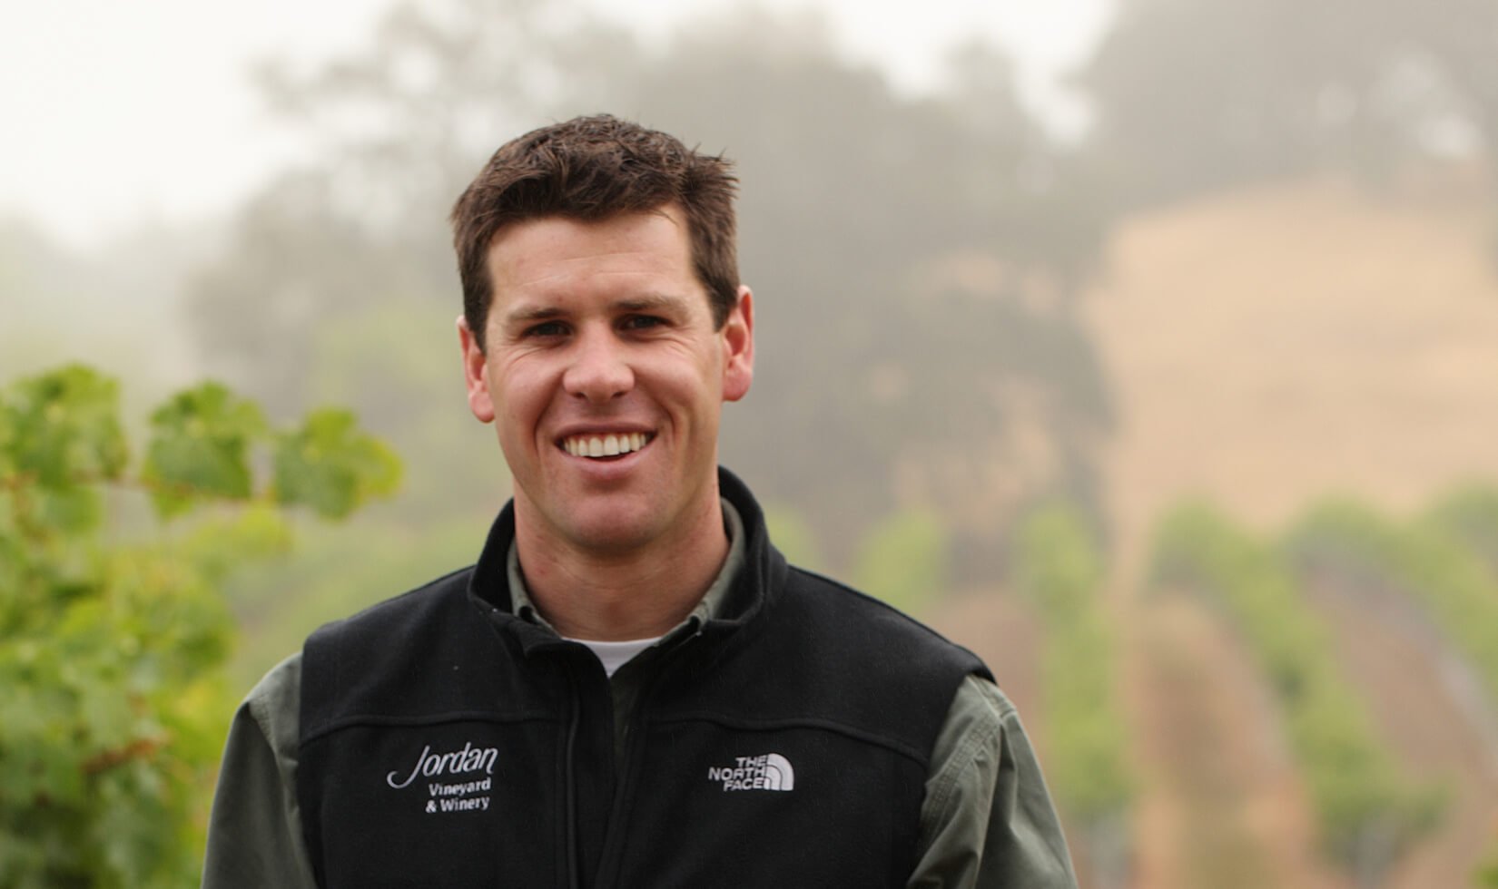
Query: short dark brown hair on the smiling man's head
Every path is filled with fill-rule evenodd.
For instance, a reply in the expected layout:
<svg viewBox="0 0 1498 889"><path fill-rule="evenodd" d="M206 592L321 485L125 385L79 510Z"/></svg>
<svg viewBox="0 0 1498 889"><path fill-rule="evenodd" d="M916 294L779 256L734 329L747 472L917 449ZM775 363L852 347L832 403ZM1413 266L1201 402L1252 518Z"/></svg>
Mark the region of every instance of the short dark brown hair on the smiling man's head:
<svg viewBox="0 0 1498 889"><path fill-rule="evenodd" d="M607 114L577 117L505 142L452 207L463 316L479 349L493 301L488 248L508 224L563 216L602 220L679 205L692 266L722 328L739 299L734 193L722 156Z"/></svg>

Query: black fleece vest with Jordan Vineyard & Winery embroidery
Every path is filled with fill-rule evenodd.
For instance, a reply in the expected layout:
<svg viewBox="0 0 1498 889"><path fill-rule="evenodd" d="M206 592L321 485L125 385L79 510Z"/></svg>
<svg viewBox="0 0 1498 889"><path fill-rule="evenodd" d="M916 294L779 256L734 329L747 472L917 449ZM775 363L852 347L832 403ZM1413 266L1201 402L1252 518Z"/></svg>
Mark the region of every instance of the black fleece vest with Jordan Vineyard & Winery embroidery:
<svg viewBox="0 0 1498 889"><path fill-rule="evenodd" d="M748 489L722 611L647 679L614 757L590 651L508 611L506 507L479 563L318 630L297 787L322 886L903 886L930 750L983 665L786 567Z"/></svg>

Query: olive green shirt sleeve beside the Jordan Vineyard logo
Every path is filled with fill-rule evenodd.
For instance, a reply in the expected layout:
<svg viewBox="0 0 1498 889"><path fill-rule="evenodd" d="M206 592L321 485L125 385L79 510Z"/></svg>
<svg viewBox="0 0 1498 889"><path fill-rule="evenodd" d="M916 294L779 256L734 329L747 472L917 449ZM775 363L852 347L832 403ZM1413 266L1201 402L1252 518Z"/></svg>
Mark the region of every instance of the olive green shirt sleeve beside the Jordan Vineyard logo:
<svg viewBox="0 0 1498 889"><path fill-rule="evenodd" d="M301 654L265 673L234 714L208 819L204 889L312 889L297 807Z"/></svg>

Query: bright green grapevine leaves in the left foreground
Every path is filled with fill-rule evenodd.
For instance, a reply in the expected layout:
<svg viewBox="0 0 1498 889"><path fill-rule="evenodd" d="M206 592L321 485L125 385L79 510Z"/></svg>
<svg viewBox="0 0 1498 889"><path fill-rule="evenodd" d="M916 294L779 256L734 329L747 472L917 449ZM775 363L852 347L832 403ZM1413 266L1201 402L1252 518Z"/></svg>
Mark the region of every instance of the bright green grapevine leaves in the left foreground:
<svg viewBox="0 0 1498 889"><path fill-rule="evenodd" d="M4 886L196 880L234 693L226 581L288 549L294 509L340 519L400 474L348 413L276 430L216 383L157 409L142 450L91 368L0 389Z"/></svg>

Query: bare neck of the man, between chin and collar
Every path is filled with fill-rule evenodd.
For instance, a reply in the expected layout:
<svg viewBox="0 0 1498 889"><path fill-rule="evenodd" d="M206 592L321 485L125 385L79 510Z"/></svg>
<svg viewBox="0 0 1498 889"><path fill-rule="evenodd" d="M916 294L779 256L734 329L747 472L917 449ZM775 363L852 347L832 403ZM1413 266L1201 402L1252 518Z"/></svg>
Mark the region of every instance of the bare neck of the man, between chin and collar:
<svg viewBox="0 0 1498 889"><path fill-rule="evenodd" d="M571 639L664 636L692 614L728 557L716 498L701 521L688 524L683 539L625 552L559 545L518 519L515 546L526 590L542 617Z"/></svg>

